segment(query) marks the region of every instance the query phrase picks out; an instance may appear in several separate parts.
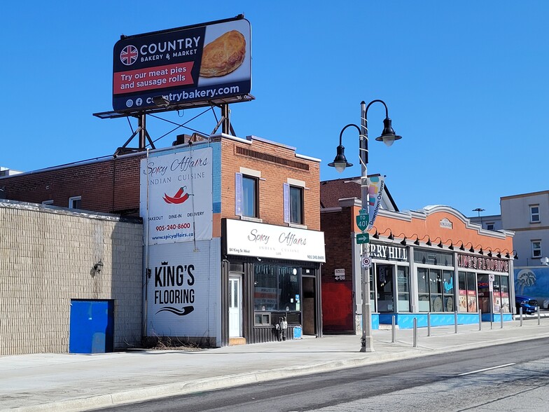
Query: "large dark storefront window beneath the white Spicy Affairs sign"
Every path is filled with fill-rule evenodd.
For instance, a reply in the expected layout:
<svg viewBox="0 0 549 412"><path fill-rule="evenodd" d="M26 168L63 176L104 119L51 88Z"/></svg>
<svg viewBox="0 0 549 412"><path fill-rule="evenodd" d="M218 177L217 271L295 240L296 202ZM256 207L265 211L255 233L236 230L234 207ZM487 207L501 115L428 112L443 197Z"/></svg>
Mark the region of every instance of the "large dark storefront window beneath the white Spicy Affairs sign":
<svg viewBox="0 0 549 412"><path fill-rule="evenodd" d="M299 269L294 266L255 266L253 308L266 311L299 311Z"/></svg>

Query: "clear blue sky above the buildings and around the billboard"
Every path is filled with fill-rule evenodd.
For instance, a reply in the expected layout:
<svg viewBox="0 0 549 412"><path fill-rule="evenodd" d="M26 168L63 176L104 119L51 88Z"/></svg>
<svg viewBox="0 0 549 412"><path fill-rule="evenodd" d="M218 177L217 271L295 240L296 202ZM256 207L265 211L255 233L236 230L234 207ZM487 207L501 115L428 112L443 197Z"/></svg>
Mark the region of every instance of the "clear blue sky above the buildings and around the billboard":
<svg viewBox="0 0 549 412"><path fill-rule="evenodd" d="M383 99L403 139L375 142L384 109L373 105L368 172L387 175L401 210L499 214L501 196L548 189L546 0L10 1L0 25L0 166L29 171L111 155L132 130L125 118L92 114L112 109L120 34L239 13L251 22L256 97L231 107L239 137L320 158L322 180L358 176L352 128L343 144L356 166L338 174L328 163L340 130L360 122L360 102ZM164 117L183 123L201 112ZM209 113L188 126L209 134L215 124ZM155 140L174 128L147 125Z"/></svg>

